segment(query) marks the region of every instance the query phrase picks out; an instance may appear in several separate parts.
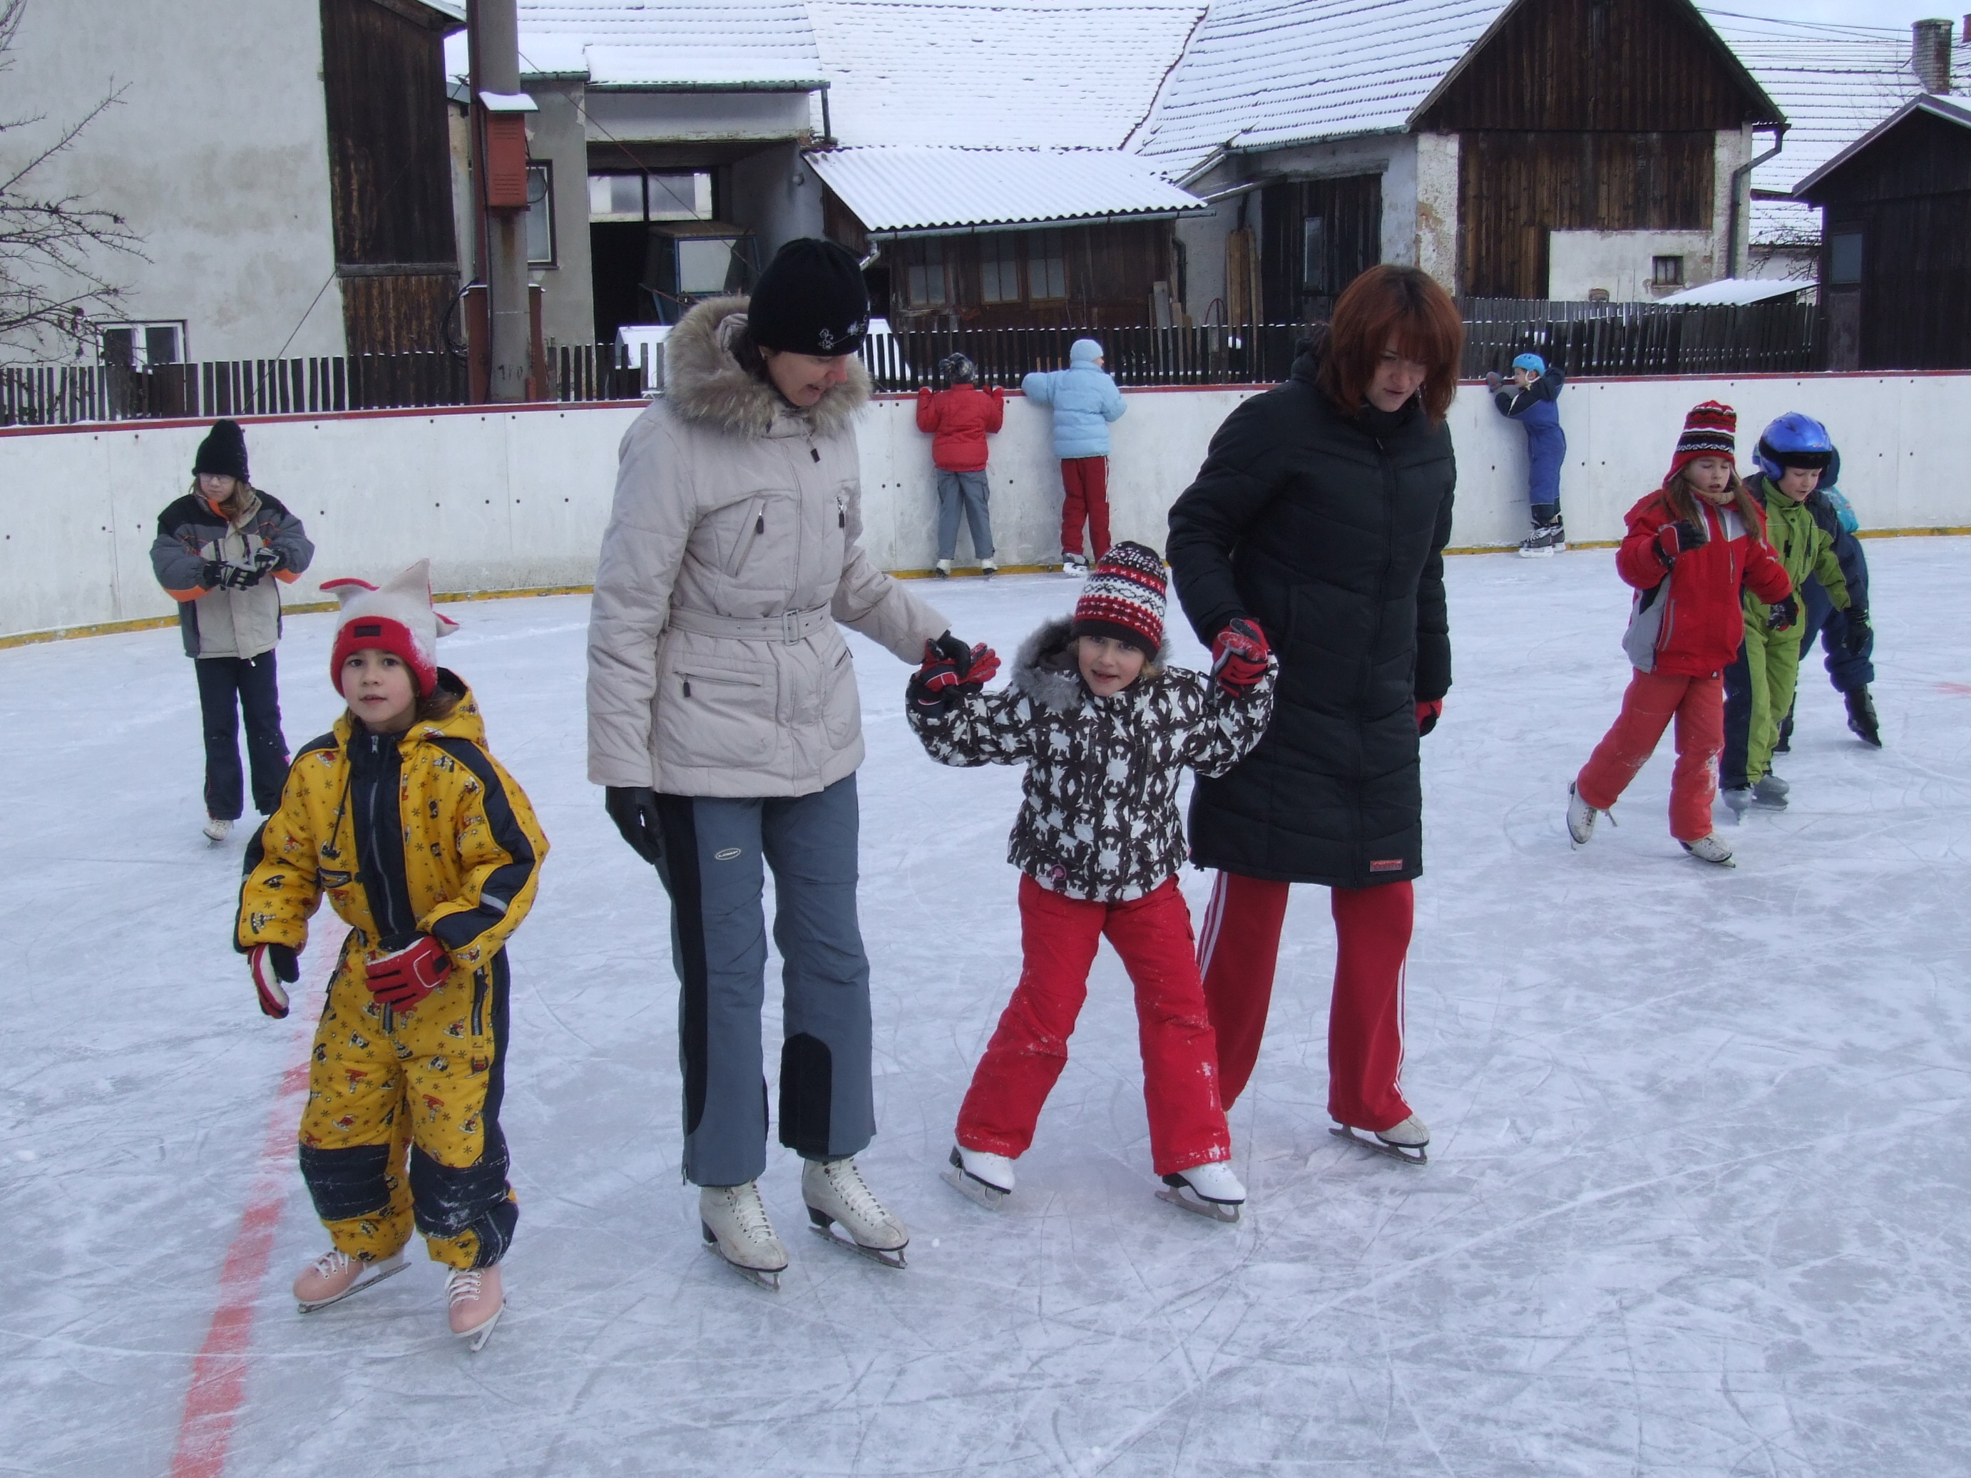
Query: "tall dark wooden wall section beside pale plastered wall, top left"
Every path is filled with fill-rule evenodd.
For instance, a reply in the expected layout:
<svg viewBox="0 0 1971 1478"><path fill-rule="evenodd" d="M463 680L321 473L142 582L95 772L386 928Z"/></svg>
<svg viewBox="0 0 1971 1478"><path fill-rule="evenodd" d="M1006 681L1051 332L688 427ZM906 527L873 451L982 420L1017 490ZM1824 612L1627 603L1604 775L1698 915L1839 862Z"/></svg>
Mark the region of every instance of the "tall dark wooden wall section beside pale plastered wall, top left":
<svg viewBox="0 0 1971 1478"><path fill-rule="evenodd" d="M321 0L331 219L353 355L443 347L457 292L445 43L422 14Z"/></svg>

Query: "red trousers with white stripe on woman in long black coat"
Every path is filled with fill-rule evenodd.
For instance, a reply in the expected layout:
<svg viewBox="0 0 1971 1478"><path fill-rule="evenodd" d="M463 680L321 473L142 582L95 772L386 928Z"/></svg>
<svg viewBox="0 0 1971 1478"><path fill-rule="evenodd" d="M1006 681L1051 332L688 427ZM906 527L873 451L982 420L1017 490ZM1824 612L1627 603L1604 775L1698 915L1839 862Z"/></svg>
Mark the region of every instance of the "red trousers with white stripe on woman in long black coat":
<svg viewBox="0 0 1971 1478"><path fill-rule="evenodd" d="M1226 1106L1238 1102L1259 1058L1273 999L1287 883L1218 873L1204 912L1204 1003L1218 1033ZM1356 1129L1409 1117L1403 1070L1403 958L1417 895L1409 883L1332 889L1334 999L1328 1007L1328 1113Z"/></svg>

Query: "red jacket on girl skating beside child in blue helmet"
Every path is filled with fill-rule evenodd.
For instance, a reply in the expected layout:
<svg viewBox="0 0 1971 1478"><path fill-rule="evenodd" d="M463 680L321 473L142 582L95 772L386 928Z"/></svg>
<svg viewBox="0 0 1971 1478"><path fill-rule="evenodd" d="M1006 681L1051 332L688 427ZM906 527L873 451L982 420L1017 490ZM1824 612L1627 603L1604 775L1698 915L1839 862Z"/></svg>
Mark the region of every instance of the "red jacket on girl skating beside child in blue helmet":
<svg viewBox="0 0 1971 1478"><path fill-rule="evenodd" d="M1665 589L1656 601L1667 601L1662 613L1662 629L1656 633L1654 672L1675 672L1689 678L1707 678L1723 672L1744 642L1744 607L1740 589L1752 587L1758 599L1784 599L1794 581L1786 577L1780 556L1766 542L1766 512L1760 508L1758 528L1740 530L1736 538L1725 536L1725 510L1695 499L1705 520L1707 540L1695 550L1677 556L1669 579L1664 579L1664 562L1656 556L1656 534L1664 524L1677 518L1669 512L1669 503L1662 489L1646 497L1628 510L1628 534L1616 550L1614 568L1638 591ZM1734 514L1736 522L1736 514ZM1656 603L1650 595L1636 599L1636 615L1630 619L1634 633L1644 613ZM1636 660L1634 648L1630 660Z"/></svg>

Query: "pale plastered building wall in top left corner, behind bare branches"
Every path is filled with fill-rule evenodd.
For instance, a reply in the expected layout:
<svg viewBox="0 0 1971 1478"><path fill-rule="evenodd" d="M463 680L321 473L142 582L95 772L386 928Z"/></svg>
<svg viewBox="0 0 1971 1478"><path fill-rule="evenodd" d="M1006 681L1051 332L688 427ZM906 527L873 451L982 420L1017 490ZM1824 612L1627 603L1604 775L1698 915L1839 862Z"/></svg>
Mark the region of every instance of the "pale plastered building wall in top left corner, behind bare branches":
<svg viewBox="0 0 1971 1478"><path fill-rule="evenodd" d="M30 0L4 112L47 146L122 99L30 181L122 215L148 260L102 254L114 319L185 323L191 359L343 353L317 0ZM319 300L317 300L319 294ZM313 303L313 307L309 307ZM300 325L300 331L296 331Z"/></svg>

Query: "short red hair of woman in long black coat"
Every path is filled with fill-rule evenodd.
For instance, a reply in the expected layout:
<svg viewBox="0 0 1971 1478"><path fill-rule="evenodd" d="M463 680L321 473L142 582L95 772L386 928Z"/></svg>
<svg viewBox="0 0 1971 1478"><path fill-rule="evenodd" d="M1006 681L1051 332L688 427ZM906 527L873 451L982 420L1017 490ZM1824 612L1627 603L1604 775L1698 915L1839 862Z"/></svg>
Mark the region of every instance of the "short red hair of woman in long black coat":
<svg viewBox="0 0 1971 1478"><path fill-rule="evenodd" d="M1427 365L1423 410L1441 422L1459 388L1464 321L1451 294L1415 266L1372 266L1334 300L1319 384L1328 400L1354 416L1376 378L1384 349Z"/></svg>

